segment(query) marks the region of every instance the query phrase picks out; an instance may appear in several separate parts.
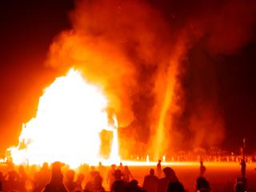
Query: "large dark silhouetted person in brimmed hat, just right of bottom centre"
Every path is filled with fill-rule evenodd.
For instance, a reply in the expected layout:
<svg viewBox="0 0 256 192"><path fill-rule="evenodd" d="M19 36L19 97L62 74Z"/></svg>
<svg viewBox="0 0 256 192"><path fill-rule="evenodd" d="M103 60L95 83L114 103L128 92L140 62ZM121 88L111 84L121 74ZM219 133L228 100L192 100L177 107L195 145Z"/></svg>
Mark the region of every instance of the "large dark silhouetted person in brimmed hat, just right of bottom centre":
<svg viewBox="0 0 256 192"><path fill-rule="evenodd" d="M157 192L166 192L169 182L179 182L174 170L170 167L166 167L162 171L166 177L158 179Z"/></svg>

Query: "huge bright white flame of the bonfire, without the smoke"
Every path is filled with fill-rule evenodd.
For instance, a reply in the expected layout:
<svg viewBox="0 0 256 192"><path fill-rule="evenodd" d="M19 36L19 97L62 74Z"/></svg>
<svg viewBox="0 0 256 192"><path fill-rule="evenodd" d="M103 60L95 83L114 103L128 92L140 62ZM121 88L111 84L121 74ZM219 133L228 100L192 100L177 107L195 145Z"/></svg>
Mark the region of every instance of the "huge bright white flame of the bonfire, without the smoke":
<svg viewBox="0 0 256 192"><path fill-rule="evenodd" d="M39 99L38 113L22 129L20 143L26 150L11 149L15 164L61 161L71 167L83 163L98 164L101 141L99 132L114 130L104 111L108 102L102 90L88 84L78 72L70 70L57 78ZM115 119L116 122L116 119ZM116 125L115 125L116 126ZM118 145L117 138L113 141ZM118 146L110 158L118 158Z"/></svg>

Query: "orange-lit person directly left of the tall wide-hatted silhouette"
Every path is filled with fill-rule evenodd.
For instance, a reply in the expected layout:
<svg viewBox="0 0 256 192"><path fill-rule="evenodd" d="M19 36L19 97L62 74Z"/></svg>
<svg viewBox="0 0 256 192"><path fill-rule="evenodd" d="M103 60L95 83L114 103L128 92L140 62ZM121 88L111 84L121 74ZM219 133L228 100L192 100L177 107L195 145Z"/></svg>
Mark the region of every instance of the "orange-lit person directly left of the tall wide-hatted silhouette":
<svg viewBox="0 0 256 192"><path fill-rule="evenodd" d="M41 170L34 174L34 192L41 192L46 187L46 184L50 183L50 177L49 164L44 162Z"/></svg>

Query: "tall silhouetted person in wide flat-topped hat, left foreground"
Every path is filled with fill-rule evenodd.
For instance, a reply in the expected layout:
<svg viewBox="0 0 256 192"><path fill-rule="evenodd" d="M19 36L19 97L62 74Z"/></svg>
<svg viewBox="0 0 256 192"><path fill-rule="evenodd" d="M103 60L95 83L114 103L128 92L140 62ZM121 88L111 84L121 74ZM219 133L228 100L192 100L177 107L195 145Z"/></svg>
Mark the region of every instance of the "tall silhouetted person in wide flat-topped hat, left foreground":
<svg viewBox="0 0 256 192"><path fill-rule="evenodd" d="M44 192L67 192L63 184L63 174L61 167L65 164L62 162L54 162L52 164L50 183L46 185Z"/></svg>

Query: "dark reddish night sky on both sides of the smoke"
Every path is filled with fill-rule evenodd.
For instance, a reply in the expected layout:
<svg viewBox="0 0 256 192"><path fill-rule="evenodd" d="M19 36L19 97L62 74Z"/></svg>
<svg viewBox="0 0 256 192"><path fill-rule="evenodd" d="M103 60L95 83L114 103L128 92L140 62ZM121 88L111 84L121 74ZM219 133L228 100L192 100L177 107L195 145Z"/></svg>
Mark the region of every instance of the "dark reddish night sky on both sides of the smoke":
<svg viewBox="0 0 256 192"><path fill-rule="evenodd" d="M191 18L193 26L193 21L202 18L203 13L211 6L203 1L193 2L194 4L189 1L152 0L150 4L160 10L167 22L172 22L172 30L175 30L175 27L183 26L184 22L189 21L188 18ZM218 8L218 2L214 7ZM74 2L71 0L0 2L1 151L10 145L18 145L22 123L29 122L35 116L42 90L62 75L58 70L44 66L44 62L54 36L62 30L71 28L67 15L72 9ZM174 22L173 18L176 19ZM215 18L210 19L215 21ZM198 82L194 80L198 78L198 71L201 71L200 79L208 79L203 76L204 74L214 75L214 82L202 83L202 86L207 87L214 83L214 87L217 87L214 93L218 94L218 104L221 106L226 127L226 137L221 145L225 150L238 150L238 147L242 146L242 138L246 138L246 146L250 152L252 149L256 150L256 28L255 20L252 19L252 25L246 28L250 30L245 33L242 31L243 36L248 32L250 38L243 42L234 42L237 44L235 50L219 49L215 45L218 38L212 40L207 38L206 34L190 47L187 54L190 64L183 65L187 72L181 77L181 82L184 90L190 90L188 93L192 96L187 95L186 102L192 103L191 107L198 87ZM218 33L214 35L218 37ZM230 33L225 35L226 38L232 36ZM223 39L220 37L220 41ZM211 45L212 50L208 50L207 45ZM200 66L198 62L210 65ZM204 70L214 72L204 73ZM207 93L211 94L211 91ZM183 118L190 113L189 110L187 107Z"/></svg>

